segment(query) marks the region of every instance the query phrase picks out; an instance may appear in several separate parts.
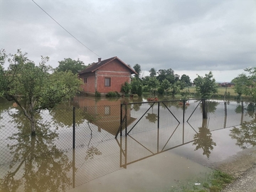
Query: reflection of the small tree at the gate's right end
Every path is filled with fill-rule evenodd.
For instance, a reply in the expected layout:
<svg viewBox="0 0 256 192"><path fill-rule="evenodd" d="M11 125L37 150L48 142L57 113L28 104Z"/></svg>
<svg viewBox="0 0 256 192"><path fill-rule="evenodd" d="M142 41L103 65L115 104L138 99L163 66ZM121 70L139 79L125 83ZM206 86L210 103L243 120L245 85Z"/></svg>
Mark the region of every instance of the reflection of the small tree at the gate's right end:
<svg viewBox="0 0 256 192"><path fill-rule="evenodd" d="M212 134L210 129L206 125L206 119L203 119L203 126L198 127L198 133L194 135L193 145L196 145L196 150L203 149L203 155L206 155L208 158L210 156L210 151L213 150L213 146L216 146L216 143L213 142Z"/></svg>

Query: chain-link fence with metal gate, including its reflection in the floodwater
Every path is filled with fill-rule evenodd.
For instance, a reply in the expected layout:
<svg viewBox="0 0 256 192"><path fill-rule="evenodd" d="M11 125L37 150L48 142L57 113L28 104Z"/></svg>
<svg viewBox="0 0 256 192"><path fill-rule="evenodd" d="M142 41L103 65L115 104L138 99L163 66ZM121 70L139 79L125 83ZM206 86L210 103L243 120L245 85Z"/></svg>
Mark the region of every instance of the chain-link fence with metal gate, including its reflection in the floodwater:
<svg viewBox="0 0 256 192"><path fill-rule="evenodd" d="M201 100L73 105L37 114L36 137L21 110L1 111L3 191L65 191L193 142L201 127L213 131L247 118L240 104L214 100L208 102L206 120Z"/></svg>

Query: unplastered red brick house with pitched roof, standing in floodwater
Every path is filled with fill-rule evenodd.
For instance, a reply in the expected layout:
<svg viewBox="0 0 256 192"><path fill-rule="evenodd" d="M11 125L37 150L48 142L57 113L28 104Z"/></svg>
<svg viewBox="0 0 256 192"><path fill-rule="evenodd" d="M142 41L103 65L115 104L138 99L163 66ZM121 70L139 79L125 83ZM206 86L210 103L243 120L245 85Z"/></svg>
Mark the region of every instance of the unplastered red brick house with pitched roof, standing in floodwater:
<svg viewBox="0 0 256 192"><path fill-rule="evenodd" d="M106 95L107 92L121 92L122 84L131 81L131 74L136 72L119 58L99 58L97 63L80 71L79 78L84 82L83 92L95 95L97 91Z"/></svg>

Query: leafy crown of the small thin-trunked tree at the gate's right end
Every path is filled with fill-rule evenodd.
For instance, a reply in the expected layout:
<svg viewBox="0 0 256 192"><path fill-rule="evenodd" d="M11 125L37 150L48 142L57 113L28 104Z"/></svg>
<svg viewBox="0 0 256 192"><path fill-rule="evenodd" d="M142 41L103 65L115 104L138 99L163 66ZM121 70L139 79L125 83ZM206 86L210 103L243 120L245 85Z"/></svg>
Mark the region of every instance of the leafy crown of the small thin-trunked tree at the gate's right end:
<svg viewBox="0 0 256 192"><path fill-rule="evenodd" d="M214 93L218 92L218 84L215 82L211 71L204 78L198 75L193 82L196 85L196 91L204 99L209 99Z"/></svg>

